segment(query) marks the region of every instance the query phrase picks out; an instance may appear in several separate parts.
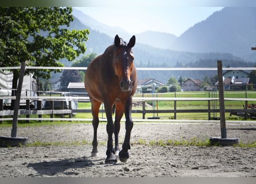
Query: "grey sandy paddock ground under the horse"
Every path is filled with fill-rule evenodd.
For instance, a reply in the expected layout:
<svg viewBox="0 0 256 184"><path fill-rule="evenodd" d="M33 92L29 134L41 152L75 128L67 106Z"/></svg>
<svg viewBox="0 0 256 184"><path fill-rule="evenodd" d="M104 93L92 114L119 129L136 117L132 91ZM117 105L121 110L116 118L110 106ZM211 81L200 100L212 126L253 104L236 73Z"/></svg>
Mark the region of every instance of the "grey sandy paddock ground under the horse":
<svg viewBox="0 0 256 184"><path fill-rule="evenodd" d="M10 136L1 127L0 136ZM125 128L121 124L120 145ZM227 122L228 137L256 141L256 123ZM0 177L256 177L256 148L220 146L159 146L150 141L206 140L220 136L216 122L135 122L127 163L105 164L106 124L98 128L98 151L92 158L91 124L18 127L18 136L65 146L0 148ZM136 144L146 141L147 144ZM70 145L68 145L70 143ZM73 144L72 144L73 143Z"/></svg>

